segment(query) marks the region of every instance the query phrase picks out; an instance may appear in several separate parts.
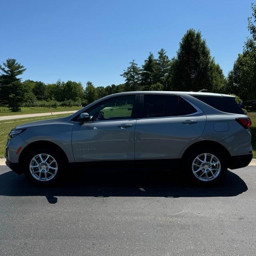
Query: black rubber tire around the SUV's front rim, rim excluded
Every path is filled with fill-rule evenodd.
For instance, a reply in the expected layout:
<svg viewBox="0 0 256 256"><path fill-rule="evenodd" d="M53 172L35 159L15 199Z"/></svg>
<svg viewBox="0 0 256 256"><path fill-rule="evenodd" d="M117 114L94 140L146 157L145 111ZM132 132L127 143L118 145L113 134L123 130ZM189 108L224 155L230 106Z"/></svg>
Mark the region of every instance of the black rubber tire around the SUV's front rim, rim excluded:
<svg viewBox="0 0 256 256"><path fill-rule="evenodd" d="M30 172L30 161L35 156L37 156L38 154L48 154L48 155L52 156L54 158L54 160L56 160L58 170L57 170L57 172L56 172L56 174L53 178L51 178L49 180L37 180L31 174L31 172ZM62 175L64 174L64 170L65 170L65 167L66 167L65 162L66 161L65 161L64 156L62 156L62 154L60 152L58 152L57 150L42 147L42 148L39 148L39 149L38 148L31 149L28 152L27 156L25 157L24 162L23 162L22 165L23 165L24 174L30 182L32 182L36 185L39 185L39 186L50 186L50 185L56 184L60 180ZM54 172L53 170L49 170L49 171ZM46 174L46 176L51 177L51 175L47 175L47 174Z"/></svg>

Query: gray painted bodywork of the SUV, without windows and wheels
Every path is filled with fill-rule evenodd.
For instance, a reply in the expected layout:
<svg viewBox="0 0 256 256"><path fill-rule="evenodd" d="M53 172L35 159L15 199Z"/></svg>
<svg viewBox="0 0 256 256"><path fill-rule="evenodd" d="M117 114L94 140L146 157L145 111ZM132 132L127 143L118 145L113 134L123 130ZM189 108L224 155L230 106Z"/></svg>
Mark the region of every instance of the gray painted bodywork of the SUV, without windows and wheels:
<svg viewBox="0 0 256 256"><path fill-rule="evenodd" d="M180 95L196 106L198 112L188 116L108 120L84 124L71 121L102 100L129 94ZM189 146L202 140L222 144L231 156L245 155L252 150L250 129L245 130L235 121L236 117L247 117L246 115L218 111L191 94L222 96L205 92L125 92L109 95L71 116L18 126L17 128L26 130L8 141L10 160L17 163L22 150L38 140L50 141L60 146L69 162L181 158ZM184 124L187 120L196 122ZM132 126L121 129L118 127L120 124ZM22 150L16 154L19 147Z"/></svg>

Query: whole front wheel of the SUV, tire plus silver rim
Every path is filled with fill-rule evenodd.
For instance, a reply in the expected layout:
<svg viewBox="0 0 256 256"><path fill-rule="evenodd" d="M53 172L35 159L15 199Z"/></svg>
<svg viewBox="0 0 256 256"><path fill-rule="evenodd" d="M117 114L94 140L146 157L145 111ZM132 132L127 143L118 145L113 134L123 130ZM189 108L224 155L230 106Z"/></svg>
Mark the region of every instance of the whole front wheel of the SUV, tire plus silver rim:
<svg viewBox="0 0 256 256"><path fill-rule="evenodd" d="M65 158L57 150L46 147L34 148L24 159L23 170L30 182L39 186L50 186L60 180L65 164Z"/></svg>

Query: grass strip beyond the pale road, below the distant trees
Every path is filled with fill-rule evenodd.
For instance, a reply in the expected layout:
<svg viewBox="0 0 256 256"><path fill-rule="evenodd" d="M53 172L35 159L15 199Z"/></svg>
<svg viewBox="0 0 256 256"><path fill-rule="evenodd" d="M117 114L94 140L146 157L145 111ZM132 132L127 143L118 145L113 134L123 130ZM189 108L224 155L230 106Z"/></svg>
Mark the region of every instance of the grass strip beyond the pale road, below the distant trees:
<svg viewBox="0 0 256 256"><path fill-rule="evenodd" d="M58 111L72 111L79 110L81 107L73 106L73 107L57 107L51 108L52 112ZM0 116L12 116L12 115L22 115L22 114L37 114L37 113L45 113L50 112L49 108L44 107L30 107L30 108L21 108L19 112L11 112L11 110L0 111Z"/></svg>

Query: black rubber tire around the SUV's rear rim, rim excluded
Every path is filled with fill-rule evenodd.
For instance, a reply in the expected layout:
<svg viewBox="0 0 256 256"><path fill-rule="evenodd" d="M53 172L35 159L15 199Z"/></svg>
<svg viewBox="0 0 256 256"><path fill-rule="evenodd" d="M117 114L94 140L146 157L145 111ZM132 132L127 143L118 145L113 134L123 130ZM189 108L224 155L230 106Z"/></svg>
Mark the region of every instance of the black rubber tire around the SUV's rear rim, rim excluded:
<svg viewBox="0 0 256 256"><path fill-rule="evenodd" d="M193 164L194 160L196 159L196 157L200 156L201 154L212 154L212 155L216 156L216 158L218 158L218 160L220 162L220 171L218 172L218 175L216 176L216 178L214 178L212 176L210 171L207 173L209 174L209 177L211 178L211 180L206 180L208 178L208 176L206 178L206 174L203 174L203 176L202 176L202 179L205 177L205 180L200 180L200 179L198 179L198 177L196 177L196 175L200 176L202 174L203 170L199 170L197 174L193 173L193 170L195 171L195 168L199 169L199 167L194 166L193 170L192 170L192 164ZM210 155L207 155L207 160L209 158L210 158ZM190 152L188 153L188 155L185 159L186 160L185 161L186 162L185 172L187 174L187 177L189 178L189 180L192 180L192 182L194 182L196 184L203 185L203 186L211 186L212 184L220 182L221 180L223 180L225 178L226 172L228 170L228 159L227 158L228 157L226 156L226 154L224 154L224 152L222 152L221 150L218 150L216 148L208 148L208 147L194 148L193 150L190 150ZM218 165L216 165L216 166L218 167Z"/></svg>

